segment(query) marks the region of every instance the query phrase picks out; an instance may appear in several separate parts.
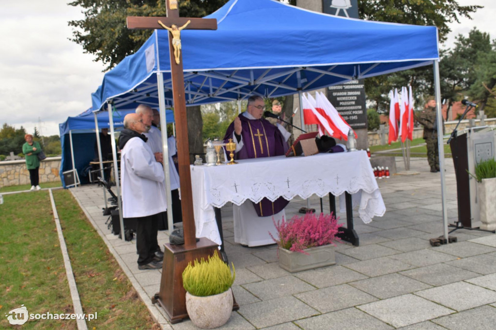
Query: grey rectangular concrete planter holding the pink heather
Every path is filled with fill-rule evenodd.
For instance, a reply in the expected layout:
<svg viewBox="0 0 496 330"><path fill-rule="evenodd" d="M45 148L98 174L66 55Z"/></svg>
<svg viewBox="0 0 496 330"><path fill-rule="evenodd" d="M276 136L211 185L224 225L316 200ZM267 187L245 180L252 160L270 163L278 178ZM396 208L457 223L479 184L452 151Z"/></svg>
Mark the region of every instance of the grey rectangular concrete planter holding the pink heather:
<svg viewBox="0 0 496 330"><path fill-rule="evenodd" d="M309 269L332 266L336 264L333 245L322 245L306 249L304 254L286 249L279 249L279 267L290 273Z"/></svg>

